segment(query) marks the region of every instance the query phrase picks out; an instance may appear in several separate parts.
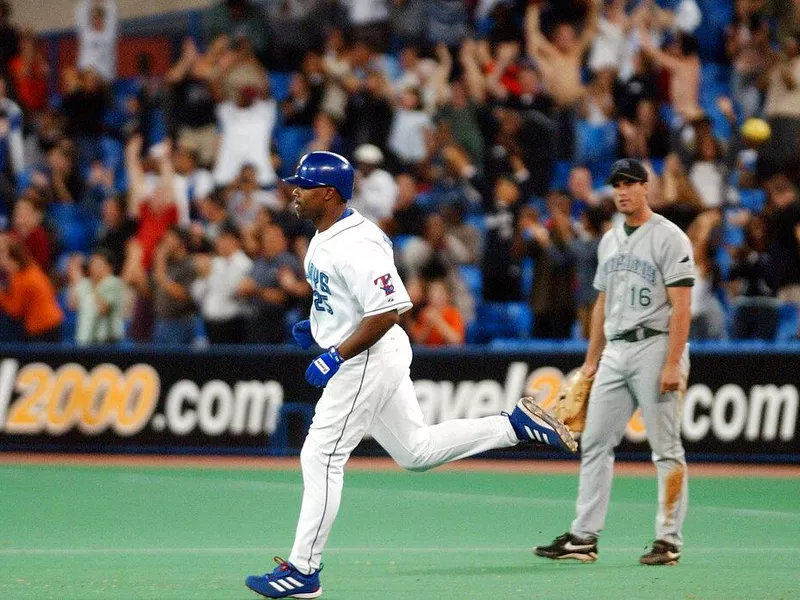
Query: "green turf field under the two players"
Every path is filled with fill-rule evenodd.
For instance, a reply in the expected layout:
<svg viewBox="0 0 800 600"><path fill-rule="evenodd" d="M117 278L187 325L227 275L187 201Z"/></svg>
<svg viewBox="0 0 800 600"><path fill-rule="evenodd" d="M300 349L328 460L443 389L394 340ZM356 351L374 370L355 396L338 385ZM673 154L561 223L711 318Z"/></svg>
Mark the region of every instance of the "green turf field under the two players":
<svg viewBox="0 0 800 600"><path fill-rule="evenodd" d="M595 564L534 557L566 475L346 475L323 598L800 598L800 482L695 478L677 567L642 567L655 482L615 481ZM294 471L0 466L0 598L254 598L287 556Z"/></svg>

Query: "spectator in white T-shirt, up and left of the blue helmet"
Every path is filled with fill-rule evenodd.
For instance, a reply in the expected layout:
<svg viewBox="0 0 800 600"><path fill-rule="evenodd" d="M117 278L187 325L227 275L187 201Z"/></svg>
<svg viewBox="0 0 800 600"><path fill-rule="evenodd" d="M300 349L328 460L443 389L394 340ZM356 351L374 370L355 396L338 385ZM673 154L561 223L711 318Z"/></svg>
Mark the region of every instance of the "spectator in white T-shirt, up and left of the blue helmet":
<svg viewBox="0 0 800 600"><path fill-rule="evenodd" d="M259 99L259 93L257 88L243 87L236 103L228 101L217 106L221 135L214 181L218 186L233 182L245 164L255 167L261 187L277 181L270 157L277 104L273 98Z"/></svg>

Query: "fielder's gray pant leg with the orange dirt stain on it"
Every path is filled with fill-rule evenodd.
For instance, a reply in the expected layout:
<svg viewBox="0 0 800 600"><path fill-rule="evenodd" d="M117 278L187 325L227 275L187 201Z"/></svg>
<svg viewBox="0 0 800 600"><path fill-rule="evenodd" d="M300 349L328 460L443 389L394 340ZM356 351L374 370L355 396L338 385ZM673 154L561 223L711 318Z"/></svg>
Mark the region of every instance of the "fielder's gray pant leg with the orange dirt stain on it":
<svg viewBox="0 0 800 600"><path fill-rule="evenodd" d="M646 344L646 345L645 345ZM658 475L658 513L656 539L680 550L683 544L683 521L689 497L686 458L681 442L683 394L659 393L661 369L667 355L666 336L639 342L641 352L631 357L631 387L642 408L647 440ZM689 349L681 357L681 376L689 377Z"/></svg>

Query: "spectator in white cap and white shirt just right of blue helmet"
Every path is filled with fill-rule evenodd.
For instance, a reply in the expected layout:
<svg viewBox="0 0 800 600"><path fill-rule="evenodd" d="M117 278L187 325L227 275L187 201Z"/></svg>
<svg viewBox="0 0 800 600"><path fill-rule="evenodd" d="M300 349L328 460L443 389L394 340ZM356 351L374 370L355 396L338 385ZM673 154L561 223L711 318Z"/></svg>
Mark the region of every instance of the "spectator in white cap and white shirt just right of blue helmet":
<svg viewBox="0 0 800 600"><path fill-rule="evenodd" d="M374 223L392 217L397 201L397 184L388 171L380 168L383 152L372 144L363 144L354 153L357 171L350 205Z"/></svg>

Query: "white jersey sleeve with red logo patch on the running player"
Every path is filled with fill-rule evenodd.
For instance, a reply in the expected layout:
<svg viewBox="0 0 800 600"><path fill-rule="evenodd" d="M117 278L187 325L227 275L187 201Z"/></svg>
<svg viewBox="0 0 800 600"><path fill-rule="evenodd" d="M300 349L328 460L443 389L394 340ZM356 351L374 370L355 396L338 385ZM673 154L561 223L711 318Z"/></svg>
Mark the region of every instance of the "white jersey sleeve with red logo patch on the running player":
<svg viewBox="0 0 800 600"><path fill-rule="evenodd" d="M340 268L365 317L390 310L402 314L412 307L387 242L370 238L360 241Z"/></svg>

